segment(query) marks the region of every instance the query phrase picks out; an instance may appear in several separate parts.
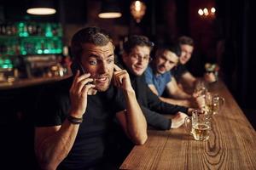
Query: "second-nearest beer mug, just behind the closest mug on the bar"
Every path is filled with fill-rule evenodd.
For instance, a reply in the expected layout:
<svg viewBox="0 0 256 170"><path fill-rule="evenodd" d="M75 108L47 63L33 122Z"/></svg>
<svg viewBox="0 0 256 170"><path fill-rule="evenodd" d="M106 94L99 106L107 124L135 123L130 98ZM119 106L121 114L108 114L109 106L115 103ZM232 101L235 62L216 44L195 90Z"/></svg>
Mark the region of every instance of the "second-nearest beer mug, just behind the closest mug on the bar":
<svg viewBox="0 0 256 170"><path fill-rule="evenodd" d="M224 98L218 96L218 94L206 94L205 109L212 115L217 114L224 106Z"/></svg>

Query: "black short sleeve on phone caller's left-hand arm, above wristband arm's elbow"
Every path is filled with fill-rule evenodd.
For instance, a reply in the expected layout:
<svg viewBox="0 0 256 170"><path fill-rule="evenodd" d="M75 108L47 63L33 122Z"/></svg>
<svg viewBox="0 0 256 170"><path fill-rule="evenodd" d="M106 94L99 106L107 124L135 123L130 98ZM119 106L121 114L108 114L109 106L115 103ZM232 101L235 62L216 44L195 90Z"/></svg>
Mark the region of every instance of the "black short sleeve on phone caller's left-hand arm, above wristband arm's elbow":
<svg viewBox="0 0 256 170"><path fill-rule="evenodd" d="M34 114L35 127L61 125L61 99L55 88L49 86L41 89Z"/></svg>

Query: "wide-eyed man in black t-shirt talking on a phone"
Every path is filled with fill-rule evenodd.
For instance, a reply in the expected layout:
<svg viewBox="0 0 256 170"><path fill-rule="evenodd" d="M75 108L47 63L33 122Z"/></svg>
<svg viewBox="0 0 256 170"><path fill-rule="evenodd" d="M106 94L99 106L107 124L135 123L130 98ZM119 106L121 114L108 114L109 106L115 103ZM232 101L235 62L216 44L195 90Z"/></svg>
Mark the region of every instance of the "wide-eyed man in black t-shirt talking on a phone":
<svg viewBox="0 0 256 170"><path fill-rule="evenodd" d="M113 63L113 49L97 27L73 36L71 52L83 69L45 88L38 100L35 152L42 169L106 168L113 120L134 144L146 142L147 123L127 71Z"/></svg>

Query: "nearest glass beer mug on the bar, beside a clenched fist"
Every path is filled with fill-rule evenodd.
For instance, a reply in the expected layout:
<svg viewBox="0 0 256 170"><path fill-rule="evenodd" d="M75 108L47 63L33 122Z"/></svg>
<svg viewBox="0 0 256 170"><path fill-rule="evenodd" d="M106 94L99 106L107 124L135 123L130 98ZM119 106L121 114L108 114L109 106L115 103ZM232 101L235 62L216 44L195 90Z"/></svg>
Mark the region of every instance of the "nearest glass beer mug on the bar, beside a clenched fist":
<svg viewBox="0 0 256 170"><path fill-rule="evenodd" d="M185 118L185 127L195 140L206 141L211 132L211 115L205 110L194 110Z"/></svg>

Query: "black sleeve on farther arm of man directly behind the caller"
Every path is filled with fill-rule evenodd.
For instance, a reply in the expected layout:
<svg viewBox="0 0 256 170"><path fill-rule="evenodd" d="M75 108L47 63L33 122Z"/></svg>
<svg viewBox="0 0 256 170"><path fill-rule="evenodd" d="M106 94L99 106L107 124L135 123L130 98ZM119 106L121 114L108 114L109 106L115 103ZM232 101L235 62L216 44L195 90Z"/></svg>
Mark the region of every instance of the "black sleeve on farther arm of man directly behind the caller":
<svg viewBox="0 0 256 170"><path fill-rule="evenodd" d="M155 95L149 88L147 88L147 97L148 97L148 108L153 111L157 111L161 114L176 114L177 111L182 111L188 113L188 108L171 105L165 102L162 102L157 95Z"/></svg>

